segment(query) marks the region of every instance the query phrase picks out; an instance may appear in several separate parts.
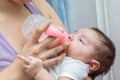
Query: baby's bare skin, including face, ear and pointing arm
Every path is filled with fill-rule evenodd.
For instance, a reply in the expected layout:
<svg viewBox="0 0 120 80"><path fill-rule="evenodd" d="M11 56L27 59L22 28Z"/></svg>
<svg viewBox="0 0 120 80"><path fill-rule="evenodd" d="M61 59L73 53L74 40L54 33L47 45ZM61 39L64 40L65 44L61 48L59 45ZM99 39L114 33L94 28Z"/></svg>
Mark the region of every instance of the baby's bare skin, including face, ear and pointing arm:
<svg viewBox="0 0 120 80"><path fill-rule="evenodd" d="M93 38L94 37L94 38ZM91 29L82 28L69 36L69 45L66 56L72 57L86 63L89 67L89 74L99 69L100 63L94 59L94 47L99 45L99 37ZM24 61L24 71L35 80L55 80L43 67L43 60L24 56L18 56ZM44 77L46 76L46 77ZM67 77L60 77L58 80L72 80ZM86 80L91 80L89 77Z"/></svg>

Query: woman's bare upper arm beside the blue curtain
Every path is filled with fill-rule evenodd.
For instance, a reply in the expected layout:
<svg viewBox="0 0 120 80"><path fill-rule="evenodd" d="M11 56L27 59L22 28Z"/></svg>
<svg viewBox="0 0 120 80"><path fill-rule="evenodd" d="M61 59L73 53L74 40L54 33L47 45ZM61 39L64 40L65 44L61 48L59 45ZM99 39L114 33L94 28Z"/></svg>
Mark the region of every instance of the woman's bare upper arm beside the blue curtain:
<svg viewBox="0 0 120 80"><path fill-rule="evenodd" d="M40 13L47 19L51 19L52 23L64 28L63 23L54 11L54 9L46 2L46 0L32 0L33 4L37 7ZM65 28L64 28L65 29Z"/></svg>

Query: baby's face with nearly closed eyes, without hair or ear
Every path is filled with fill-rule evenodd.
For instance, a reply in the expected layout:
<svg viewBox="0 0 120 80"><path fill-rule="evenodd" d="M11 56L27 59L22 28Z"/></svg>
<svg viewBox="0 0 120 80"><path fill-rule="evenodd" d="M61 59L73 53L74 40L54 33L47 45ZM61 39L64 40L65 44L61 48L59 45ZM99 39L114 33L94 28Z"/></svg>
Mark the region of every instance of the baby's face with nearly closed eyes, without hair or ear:
<svg viewBox="0 0 120 80"><path fill-rule="evenodd" d="M81 28L69 36L67 56L88 63L93 58L95 45L100 44L97 33Z"/></svg>

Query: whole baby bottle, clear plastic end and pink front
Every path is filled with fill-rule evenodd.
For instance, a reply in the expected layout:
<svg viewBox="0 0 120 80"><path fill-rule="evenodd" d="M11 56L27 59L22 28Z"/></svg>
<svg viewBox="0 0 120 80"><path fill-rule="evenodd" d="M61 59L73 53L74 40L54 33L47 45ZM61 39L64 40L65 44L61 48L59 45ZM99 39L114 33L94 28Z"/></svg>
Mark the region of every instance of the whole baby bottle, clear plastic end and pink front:
<svg viewBox="0 0 120 80"><path fill-rule="evenodd" d="M29 39L30 36L34 33L35 29L39 27L47 19L38 14L30 15L24 22L22 33L23 35ZM60 27L57 27L51 24L40 36L40 40L44 40L48 36L52 36L58 38L58 42L56 46L64 44L68 41L68 34Z"/></svg>

